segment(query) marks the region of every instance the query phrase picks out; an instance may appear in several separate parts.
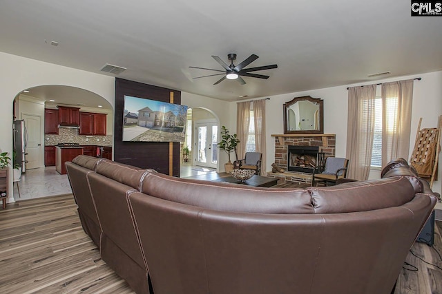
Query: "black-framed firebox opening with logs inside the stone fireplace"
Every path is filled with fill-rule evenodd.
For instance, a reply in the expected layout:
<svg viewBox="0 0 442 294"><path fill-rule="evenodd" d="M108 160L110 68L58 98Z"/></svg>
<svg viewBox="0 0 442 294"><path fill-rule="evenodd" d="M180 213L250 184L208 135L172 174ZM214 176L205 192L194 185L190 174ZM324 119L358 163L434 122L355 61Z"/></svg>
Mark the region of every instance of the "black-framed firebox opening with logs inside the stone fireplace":
<svg viewBox="0 0 442 294"><path fill-rule="evenodd" d="M287 171L317 173L323 165L324 154L318 146L288 146Z"/></svg>

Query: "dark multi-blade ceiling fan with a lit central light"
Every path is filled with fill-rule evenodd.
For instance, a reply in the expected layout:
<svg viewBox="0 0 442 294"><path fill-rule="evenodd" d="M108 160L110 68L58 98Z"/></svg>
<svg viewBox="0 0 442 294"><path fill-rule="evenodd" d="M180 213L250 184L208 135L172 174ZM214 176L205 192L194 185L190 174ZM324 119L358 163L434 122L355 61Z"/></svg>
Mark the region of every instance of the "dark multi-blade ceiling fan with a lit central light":
<svg viewBox="0 0 442 294"><path fill-rule="evenodd" d="M267 79L267 78L269 78L269 76L265 76L263 74L252 74L251 72L256 72L258 70L269 70L271 68L278 68L278 65L276 65L276 64L244 68L247 65L249 65L250 63L252 63L253 61L256 61L256 59L258 59L259 56L255 55L255 54L251 54L251 56L249 56L246 60L242 61L242 63L240 63L238 65L233 64L233 61L236 60L235 53L227 54L227 59L229 59L229 61L231 62L230 65L227 65L227 63L224 63L224 61L222 61L220 59L220 57L218 57L218 56L212 55L212 57L213 57L213 59L215 59L215 61L220 63L220 65L222 67L224 67L224 70L213 70L211 68L195 67L195 66L189 66L189 67L198 68L200 70L213 70L214 72L222 72L222 74L224 74L224 76L222 78L220 78L218 81L216 81L216 83L214 83L213 85L218 85L219 83L224 81L226 78L229 80L237 80L238 83L240 83L241 85L244 85L246 83L246 81L244 81L244 79L241 76L250 76L251 78L265 78L265 79ZM207 76L220 76L222 74L209 74ZM207 76L197 76L195 78L205 78Z"/></svg>

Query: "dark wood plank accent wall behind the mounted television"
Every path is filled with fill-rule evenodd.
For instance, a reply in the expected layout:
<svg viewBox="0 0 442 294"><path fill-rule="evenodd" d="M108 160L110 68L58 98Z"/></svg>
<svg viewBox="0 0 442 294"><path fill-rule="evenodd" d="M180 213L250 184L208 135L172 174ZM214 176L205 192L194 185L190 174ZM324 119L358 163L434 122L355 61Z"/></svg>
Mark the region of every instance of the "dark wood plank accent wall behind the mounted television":
<svg viewBox="0 0 442 294"><path fill-rule="evenodd" d="M173 143L173 171L169 171L169 143L123 142L124 96L181 104L181 92L134 81L115 79L114 160L143 169L155 169L162 174L180 176L180 143Z"/></svg>

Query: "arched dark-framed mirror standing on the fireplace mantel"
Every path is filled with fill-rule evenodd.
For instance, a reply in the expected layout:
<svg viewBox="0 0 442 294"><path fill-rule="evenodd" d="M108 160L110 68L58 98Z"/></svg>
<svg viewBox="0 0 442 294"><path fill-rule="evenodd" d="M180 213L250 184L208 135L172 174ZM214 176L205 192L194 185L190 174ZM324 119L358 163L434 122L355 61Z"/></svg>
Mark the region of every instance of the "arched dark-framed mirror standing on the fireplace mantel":
<svg viewBox="0 0 442 294"><path fill-rule="evenodd" d="M302 96L284 103L284 134L323 134L324 101Z"/></svg>

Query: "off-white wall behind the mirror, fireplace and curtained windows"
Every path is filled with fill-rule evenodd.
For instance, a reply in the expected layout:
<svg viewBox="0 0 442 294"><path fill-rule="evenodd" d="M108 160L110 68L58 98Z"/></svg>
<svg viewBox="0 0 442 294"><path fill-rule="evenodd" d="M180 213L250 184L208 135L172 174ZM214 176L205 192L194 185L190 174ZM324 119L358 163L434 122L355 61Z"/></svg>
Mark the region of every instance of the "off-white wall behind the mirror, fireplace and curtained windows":
<svg viewBox="0 0 442 294"><path fill-rule="evenodd" d="M414 81L413 105L412 105L412 134L410 136L410 154L414 148L417 125L419 118L423 118L421 128L436 127L439 115L442 115L442 72L431 72L427 74L415 74L400 78L388 78L372 81L370 83L384 83L399 81L408 78L421 77L421 81ZM270 96L266 104L266 132L267 132L267 171L271 170L271 163L274 162L275 144L271 134L284 134L282 121L282 105L299 96L309 95L314 98L324 99L324 132L336 134L336 156L345 157L347 142L347 87L356 85L368 85L361 83L329 87L325 89L295 92ZM267 98L267 97L262 97ZM236 103L231 103L235 108ZM235 126L236 127L236 126ZM439 156L439 167L442 167L442 154ZM410 158L407 158L410 160ZM370 178L379 178L380 171L373 171ZM442 168L439 168L439 180L434 182L433 190L441 193Z"/></svg>

